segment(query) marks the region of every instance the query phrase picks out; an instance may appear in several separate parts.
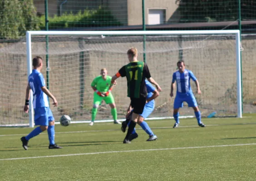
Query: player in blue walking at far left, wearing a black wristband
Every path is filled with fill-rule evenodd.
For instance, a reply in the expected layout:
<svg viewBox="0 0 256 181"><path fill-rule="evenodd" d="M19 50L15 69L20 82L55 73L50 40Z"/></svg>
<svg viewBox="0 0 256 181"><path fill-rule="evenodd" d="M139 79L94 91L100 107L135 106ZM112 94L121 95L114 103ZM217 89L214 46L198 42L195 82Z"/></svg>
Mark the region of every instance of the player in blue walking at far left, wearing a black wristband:
<svg viewBox="0 0 256 181"><path fill-rule="evenodd" d="M49 138L49 149L61 148L54 143L54 117L52 111L49 108L48 96L53 100L54 107L58 105L55 97L45 87L44 76L40 72L43 67L43 60L41 57L33 58L33 70L29 76L29 84L26 89L26 100L24 105L24 111L29 112L29 99L30 90L33 91L33 107L34 107L34 123L39 125L27 136L21 139L22 146L25 150L28 149L28 142L31 138L37 136L47 129ZM48 95L48 96L47 96Z"/></svg>

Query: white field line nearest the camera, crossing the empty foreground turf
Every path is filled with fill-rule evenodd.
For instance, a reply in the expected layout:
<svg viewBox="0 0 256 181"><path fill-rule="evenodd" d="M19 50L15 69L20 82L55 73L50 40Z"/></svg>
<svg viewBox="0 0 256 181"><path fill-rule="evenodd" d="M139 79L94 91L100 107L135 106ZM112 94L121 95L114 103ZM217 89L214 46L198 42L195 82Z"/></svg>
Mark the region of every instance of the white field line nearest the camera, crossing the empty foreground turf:
<svg viewBox="0 0 256 181"><path fill-rule="evenodd" d="M50 155L50 156L41 156L41 157L5 158L5 159L0 159L0 161L32 159L32 158L48 158L48 157L69 157L69 156L79 156L79 155L96 155L96 154L119 153L119 152L149 152L149 151L161 151L161 150L179 150L179 149L195 149L195 148L235 147L235 146L248 146L248 145L256 145L256 143L231 144L231 145L213 145L213 146L202 146L202 147L159 148L159 149L147 149L147 150L125 150L125 151L111 151L111 152L90 152L90 153L77 153L77 154L68 154L68 155Z"/></svg>

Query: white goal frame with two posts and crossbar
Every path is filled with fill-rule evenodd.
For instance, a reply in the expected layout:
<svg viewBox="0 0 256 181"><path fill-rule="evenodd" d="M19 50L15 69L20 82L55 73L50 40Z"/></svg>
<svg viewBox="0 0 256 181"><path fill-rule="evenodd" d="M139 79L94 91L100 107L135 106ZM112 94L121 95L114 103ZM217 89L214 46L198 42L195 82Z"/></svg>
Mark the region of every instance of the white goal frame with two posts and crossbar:
<svg viewBox="0 0 256 181"><path fill-rule="evenodd" d="M224 36L227 36L227 35L233 36L233 40L234 40L233 44L234 44L234 47L235 47L234 51L236 52L235 53L236 55L234 55L234 58L236 59L236 60L234 60L234 62L236 61L236 65L234 65L235 67L232 67L232 69L236 69L236 70L233 70L236 73L236 85L235 85L235 87L236 87L236 103L235 103L236 104L236 117L238 117L238 118L242 117L242 101L241 101L242 100L242 95L241 95L241 52L240 52L241 51L240 50L240 48L241 48L240 41L241 40L240 40L240 31L239 30L193 30L193 31L27 31L26 32L26 50L27 50L27 74L28 75L30 75L30 73L32 72L32 59L33 59L32 56L40 56L40 54L37 53L35 55L32 52L33 40L31 38L33 38L34 36L36 37L36 36L46 36L46 35L48 35L48 36L57 36L57 37L58 36L59 37L65 37L65 36L67 36L67 37L68 36L80 36L80 37L99 37L99 36L101 36L101 37L108 37L108 36L113 36L113 37L128 36L128 37L130 37L130 36L140 36L140 37L143 37L143 36L146 36L147 37L146 41L152 41L152 42L153 41L157 41L158 39L161 39L161 41L163 42L164 41L164 40L162 40L162 36L163 35L164 35L165 39L168 39L168 37L177 37L177 38L182 37L182 38L184 38L184 40L182 40L184 42L186 42L186 41L194 41L195 45L193 45L193 46L195 46L195 48L193 46L191 47L191 46L188 45L186 48L184 48L184 47L183 48L180 48L180 47L178 47L178 48L170 48L170 51L175 51L176 49L177 49L177 51L180 51L181 49L183 49L183 51L186 51L186 49L194 48L193 51L196 52L197 54L200 54L200 52L201 52L200 48L203 49L203 48L205 48L207 46L203 42L206 42L204 40L208 39L208 37L210 37L210 36L215 36L215 37L223 36L224 37ZM203 39L202 39L202 35L205 36ZM199 39L201 40L201 42L200 41L196 42L196 40L198 40L198 37L200 37ZM150 38L152 38L152 39L150 39ZM148 40L148 39L150 39L150 40ZM223 40L223 39L219 39L219 38L212 38L212 39L214 39L214 41L215 41L214 45L213 45L213 43L211 44L212 46L214 46L213 49L218 48L219 46L217 45L217 43L221 42ZM219 41L217 41L217 40L219 40ZM97 40L97 43L98 44L104 43L104 41L105 41L105 39L102 38L102 39ZM119 39L117 39L117 38L114 39L114 41L119 43ZM91 43L90 38L88 38L87 43ZM140 42L140 43L142 43L142 42ZM92 47L99 46L98 44L95 44L95 45L92 44ZM121 43L119 43L119 45L120 44ZM119 45L117 45L116 47L118 47ZM209 47L211 45L209 45ZM154 49L152 48L152 50L154 50ZM159 50L161 50L161 49L159 48ZM95 50L95 51L98 51L98 50ZM118 51L117 51L117 53L119 53ZM162 54L165 53L164 51L162 52ZM207 54L210 54L209 51L211 51L211 49L207 50ZM220 50L220 52L221 52L221 50ZM122 52L122 53L126 54L126 52ZM142 53L142 52L140 52L140 53ZM146 42L146 52L145 53L154 53L154 52L151 52L151 49L147 47L147 42ZM175 52L175 53L177 53L177 52ZM202 53L204 53L204 52L202 52ZM44 54L45 54L45 52L44 52ZM92 56L91 53L88 53L88 54L90 56ZM126 59L125 54L123 54L124 55L123 59ZM224 54L225 53L223 52L222 55L224 56ZM220 56L222 56L222 55L220 55ZM189 59L189 57L190 57L190 54L189 54L189 52L187 52L186 60ZM104 59L104 55L103 55L102 59ZM49 62L51 63L51 61L49 61ZM174 62L177 62L177 60L174 60ZM115 62L113 62L112 65L115 65ZM118 64L118 66L119 66L119 64ZM168 66L168 63L166 63L165 66ZM169 66L173 67L173 66L175 66L175 64L172 63ZM193 64L193 66L195 66L195 64ZM99 70L101 68L102 67L98 67ZM117 68L121 68L121 67L117 67ZM116 71L118 71L117 68L115 69ZM188 68L190 68L190 67L188 67ZM216 68L218 69L218 67L216 67ZM153 69L153 67L149 67L149 69ZM212 67L212 69L214 69L214 67ZM193 68L191 68L191 70L193 71ZM223 70L225 70L225 69L223 69ZM111 72L111 73L113 74L115 72ZM173 73L173 71L171 73ZM195 73L195 74L197 76L197 73ZM110 76L112 76L112 75L110 75ZM154 75L152 75L152 76L154 77ZM212 76L214 76L214 75L212 75ZM45 77L45 75L44 75L44 77ZM118 80L118 81L120 81L120 80ZM122 81L126 81L126 80L122 80ZM156 81L158 81L158 80L156 80ZM199 78L199 82L200 82L200 78ZM167 90L167 92L170 91L170 88L169 88L170 84L171 84L171 80L168 80L167 83L166 83L166 86L163 87L164 89ZM223 83L223 84L225 84L225 83ZM203 86L203 83L201 83L200 86ZM118 90L119 89L118 86L115 89ZM50 88L50 90L51 90L51 88ZM214 90L211 90L211 91L213 92ZM167 92L163 92L163 93L169 94ZM53 92L53 94L54 94L54 92ZM159 97L161 97L162 94L160 94ZM223 96L226 96L226 95L223 95ZM207 97L207 95L206 95L206 97ZM61 97L59 97L59 99L61 99ZM221 98L219 98L219 99L221 99ZM32 106L33 105L32 101L33 101L33 95L31 93L30 94L30 111L29 111L29 114L30 114L30 122L29 122L30 124L29 125L30 125L30 127L34 126L34 116L33 116L34 112L33 112L33 108L32 108L33 107ZM51 100L50 100L50 102L51 102ZM211 102L211 101L209 100L209 102ZM166 103L167 103L167 101L165 101L164 103L161 103L161 105L164 105ZM212 103L207 103L207 104L211 105ZM91 103L91 105L92 105L92 103ZM172 116L172 113L170 112L169 115Z"/></svg>

